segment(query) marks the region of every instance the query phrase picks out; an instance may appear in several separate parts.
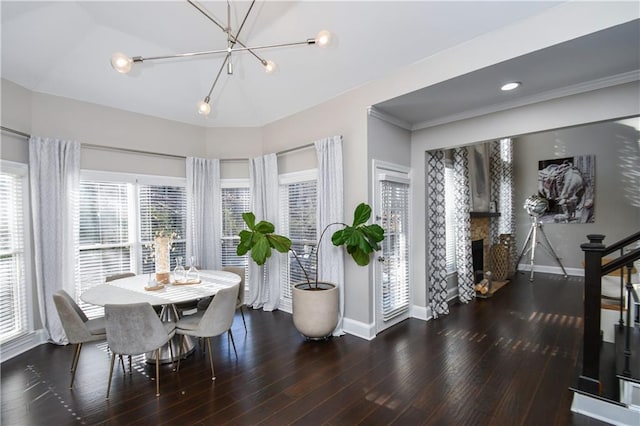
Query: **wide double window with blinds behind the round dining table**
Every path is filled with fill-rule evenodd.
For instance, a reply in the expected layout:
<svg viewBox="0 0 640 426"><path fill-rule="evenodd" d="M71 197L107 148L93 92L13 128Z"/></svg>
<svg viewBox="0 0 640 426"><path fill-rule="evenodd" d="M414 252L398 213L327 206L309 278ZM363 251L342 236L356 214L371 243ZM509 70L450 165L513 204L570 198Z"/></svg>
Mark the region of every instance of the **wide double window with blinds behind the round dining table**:
<svg viewBox="0 0 640 426"><path fill-rule="evenodd" d="M156 232L178 235L171 253L173 264L178 256L185 256L184 179L83 172L79 215L75 299L90 318L102 315L102 308L85 304L80 294L109 275L153 272L149 247Z"/></svg>

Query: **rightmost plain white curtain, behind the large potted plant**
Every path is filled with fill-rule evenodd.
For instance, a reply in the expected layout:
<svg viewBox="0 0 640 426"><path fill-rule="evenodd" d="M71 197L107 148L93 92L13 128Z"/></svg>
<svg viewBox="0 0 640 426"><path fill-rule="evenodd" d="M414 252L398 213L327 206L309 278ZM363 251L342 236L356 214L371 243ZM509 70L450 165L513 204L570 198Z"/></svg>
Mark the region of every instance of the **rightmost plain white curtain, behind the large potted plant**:
<svg viewBox="0 0 640 426"><path fill-rule="evenodd" d="M335 222L344 221L344 197L342 176L342 137L333 136L315 142L318 156L318 216L317 235ZM342 318L344 315L344 252L341 247L331 243L331 229L318 247L318 279L336 284L340 290L340 319L334 336L344 334Z"/></svg>

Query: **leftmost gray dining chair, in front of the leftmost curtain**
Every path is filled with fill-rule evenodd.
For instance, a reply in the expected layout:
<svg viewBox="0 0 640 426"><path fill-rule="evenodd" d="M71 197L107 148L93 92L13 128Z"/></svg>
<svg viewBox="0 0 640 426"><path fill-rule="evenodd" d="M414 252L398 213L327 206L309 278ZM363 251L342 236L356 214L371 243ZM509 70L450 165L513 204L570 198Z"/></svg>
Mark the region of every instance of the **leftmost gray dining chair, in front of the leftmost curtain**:
<svg viewBox="0 0 640 426"><path fill-rule="evenodd" d="M88 319L80 309L80 306L64 290L58 290L53 294L53 303L58 311L60 323L64 333L67 335L67 340L69 340L69 343L76 345L73 360L71 361L71 384L69 389L72 389L82 344L103 340L107 337L105 319L104 317Z"/></svg>

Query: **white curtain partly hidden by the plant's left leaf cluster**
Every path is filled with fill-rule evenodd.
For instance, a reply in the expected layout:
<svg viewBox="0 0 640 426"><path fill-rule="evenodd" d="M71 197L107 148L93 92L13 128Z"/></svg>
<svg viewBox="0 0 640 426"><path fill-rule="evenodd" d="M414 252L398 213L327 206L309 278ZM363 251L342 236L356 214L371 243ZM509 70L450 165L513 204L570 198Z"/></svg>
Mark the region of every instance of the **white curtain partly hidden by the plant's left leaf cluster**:
<svg viewBox="0 0 640 426"><path fill-rule="evenodd" d="M256 221L278 223L278 159L275 154L249 160L251 210ZM276 229L277 232L277 229ZM280 303L280 254L274 253L264 266L249 262L249 298L247 305L265 311L278 309ZM284 256L284 255L282 255Z"/></svg>

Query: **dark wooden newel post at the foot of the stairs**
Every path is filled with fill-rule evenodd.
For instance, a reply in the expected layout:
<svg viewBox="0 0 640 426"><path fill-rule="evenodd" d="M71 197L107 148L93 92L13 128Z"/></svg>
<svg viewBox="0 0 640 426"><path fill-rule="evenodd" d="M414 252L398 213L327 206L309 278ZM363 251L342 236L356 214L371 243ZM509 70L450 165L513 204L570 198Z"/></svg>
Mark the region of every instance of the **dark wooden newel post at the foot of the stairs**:
<svg viewBox="0 0 640 426"><path fill-rule="evenodd" d="M584 322L582 341L582 373L578 387L600 394L600 297L602 294L602 253L604 235L587 235L588 243L580 245L584 252Z"/></svg>

